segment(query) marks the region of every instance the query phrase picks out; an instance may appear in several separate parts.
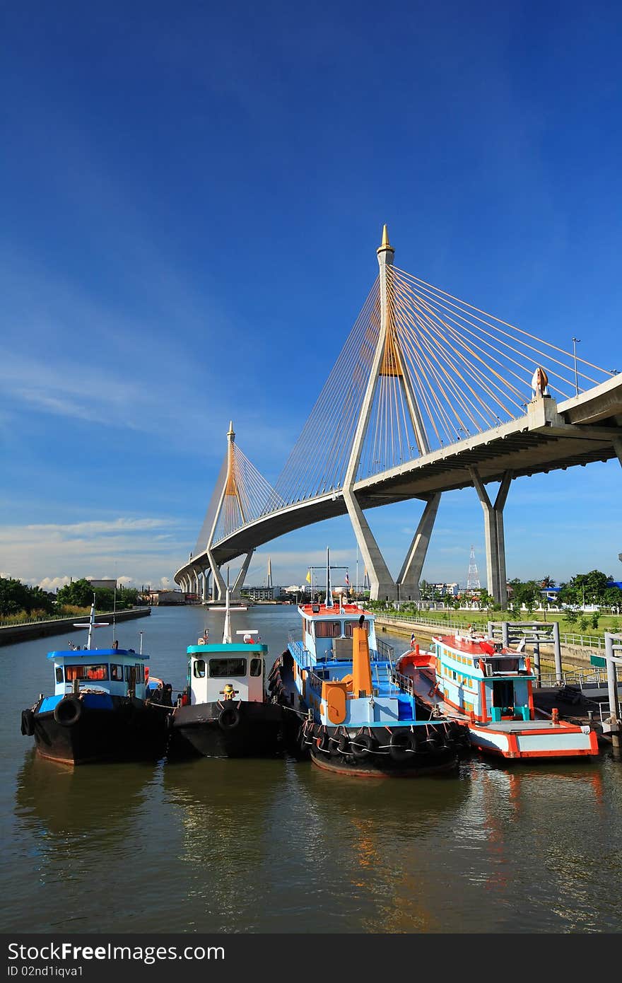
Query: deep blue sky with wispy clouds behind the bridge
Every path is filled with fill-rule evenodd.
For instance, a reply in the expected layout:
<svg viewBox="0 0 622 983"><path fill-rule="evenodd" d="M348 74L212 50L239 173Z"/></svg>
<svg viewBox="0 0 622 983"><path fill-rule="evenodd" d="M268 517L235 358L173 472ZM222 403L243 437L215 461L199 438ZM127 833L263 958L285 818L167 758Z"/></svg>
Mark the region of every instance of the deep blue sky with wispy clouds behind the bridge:
<svg viewBox="0 0 622 983"><path fill-rule="evenodd" d="M3 5L0 572L166 583L231 418L274 482L396 263L622 371L616 3ZM8 96L8 97L7 97ZM616 461L520 479L508 576L619 579ZM421 505L369 516L397 573ZM473 490L424 567L484 575ZM345 520L257 551L302 582Z"/></svg>

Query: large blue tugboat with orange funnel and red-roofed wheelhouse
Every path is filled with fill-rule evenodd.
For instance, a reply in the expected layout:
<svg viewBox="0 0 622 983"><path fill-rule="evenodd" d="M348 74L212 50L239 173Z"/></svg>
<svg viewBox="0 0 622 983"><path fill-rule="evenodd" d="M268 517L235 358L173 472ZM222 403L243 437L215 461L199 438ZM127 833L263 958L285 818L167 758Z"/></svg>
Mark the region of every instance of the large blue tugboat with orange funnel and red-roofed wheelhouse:
<svg viewBox="0 0 622 983"><path fill-rule="evenodd" d="M429 711L376 642L374 615L358 605L298 608L301 641L290 638L270 673L270 689L306 712L303 751L319 768L361 778L446 772L458 761L460 723L431 720Z"/></svg>

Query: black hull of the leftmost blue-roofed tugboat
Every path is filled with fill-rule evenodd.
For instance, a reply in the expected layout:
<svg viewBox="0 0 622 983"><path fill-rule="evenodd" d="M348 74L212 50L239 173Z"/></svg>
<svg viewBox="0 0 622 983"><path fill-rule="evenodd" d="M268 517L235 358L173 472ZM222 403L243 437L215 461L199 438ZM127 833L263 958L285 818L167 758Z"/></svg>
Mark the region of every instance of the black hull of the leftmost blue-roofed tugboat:
<svg viewBox="0 0 622 983"><path fill-rule="evenodd" d="M157 761L164 756L166 708L110 696L105 700L66 698L57 701L53 709L46 707L47 702L39 701L28 717L36 753L41 758L65 765L85 765ZM60 713L59 707L61 711L67 708L66 712Z"/></svg>

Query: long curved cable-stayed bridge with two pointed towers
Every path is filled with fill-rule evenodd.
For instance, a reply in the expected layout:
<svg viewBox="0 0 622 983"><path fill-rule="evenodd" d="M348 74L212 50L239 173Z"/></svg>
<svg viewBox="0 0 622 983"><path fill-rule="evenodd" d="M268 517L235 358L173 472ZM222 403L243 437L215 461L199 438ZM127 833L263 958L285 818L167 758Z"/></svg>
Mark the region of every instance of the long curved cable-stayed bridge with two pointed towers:
<svg viewBox="0 0 622 983"><path fill-rule="evenodd" d="M507 601L503 508L512 479L618 457L622 376L453 297L394 265L384 226L378 276L272 488L235 442L187 563L186 591L222 599L224 564L284 533L348 514L371 597L418 600L442 492L472 486L484 518L488 592ZM485 486L499 482L491 500ZM396 580L365 516L420 499Z"/></svg>

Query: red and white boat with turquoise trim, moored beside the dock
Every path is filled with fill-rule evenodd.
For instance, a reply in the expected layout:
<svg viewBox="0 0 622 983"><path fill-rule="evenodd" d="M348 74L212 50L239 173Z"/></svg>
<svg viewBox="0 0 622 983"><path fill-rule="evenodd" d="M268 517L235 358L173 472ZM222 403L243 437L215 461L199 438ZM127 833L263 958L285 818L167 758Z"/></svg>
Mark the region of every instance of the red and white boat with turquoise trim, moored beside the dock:
<svg viewBox="0 0 622 983"><path fill-rule="evenodd" d="M529 656L501 642L461 634L434 637L428 652L414 645L397 663L430 709L469 728L472 746L503 758L575 758L598 754L590 726L537 720Z"/></svg>

